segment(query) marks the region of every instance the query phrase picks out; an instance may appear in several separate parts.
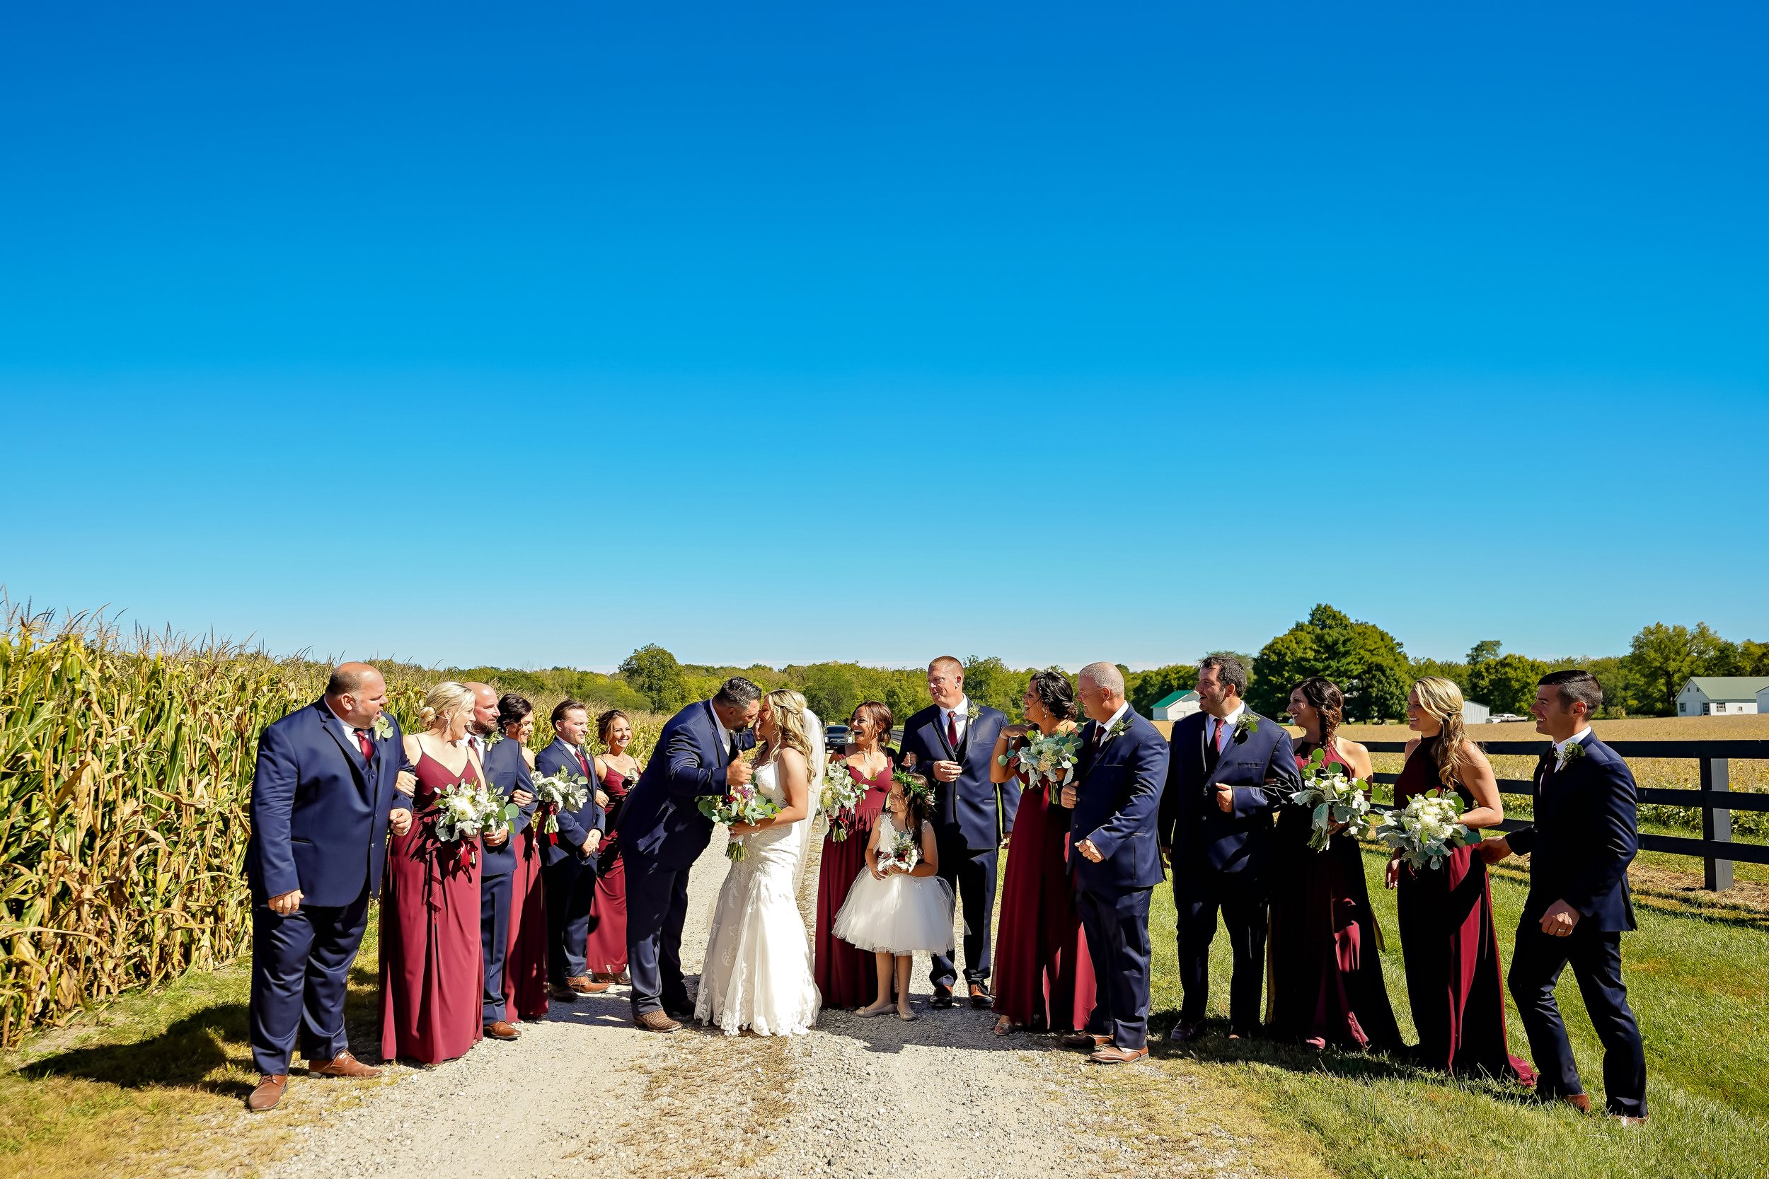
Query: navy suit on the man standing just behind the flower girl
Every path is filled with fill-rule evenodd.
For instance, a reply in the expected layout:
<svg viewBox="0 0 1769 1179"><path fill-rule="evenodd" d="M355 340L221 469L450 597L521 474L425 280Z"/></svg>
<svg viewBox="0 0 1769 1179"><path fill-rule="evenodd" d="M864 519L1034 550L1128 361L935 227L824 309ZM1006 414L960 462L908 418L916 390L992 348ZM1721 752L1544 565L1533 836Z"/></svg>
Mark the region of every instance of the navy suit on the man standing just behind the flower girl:
<svg viewBox="0 0 1769 1179"><path fill-rule="evenodd" d="M966 705L961 705L966 707ZM976 707L968 721L959 749L946 741L945 714L929 705L902 726L899 764L915 758L915 772L934 787L934 840L939 848L939 875L952 886L964 912L964 981L989 977L989 926L994 919L996 861L1001 834L1014 831L1019 813L1019 785L989 781L994 742L1007 716L999 709ZM934 762L957 762L962 769L953 781L934 778ZM959 981L948 955L932 956L934 986L950 990Z"/></svg>

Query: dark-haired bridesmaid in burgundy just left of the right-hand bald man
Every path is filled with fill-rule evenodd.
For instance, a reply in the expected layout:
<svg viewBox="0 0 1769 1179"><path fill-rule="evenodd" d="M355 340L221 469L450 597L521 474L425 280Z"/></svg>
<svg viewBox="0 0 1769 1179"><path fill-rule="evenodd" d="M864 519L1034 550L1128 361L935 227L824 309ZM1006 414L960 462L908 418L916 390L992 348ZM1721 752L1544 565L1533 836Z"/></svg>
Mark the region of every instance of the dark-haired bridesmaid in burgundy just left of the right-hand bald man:
<svg viewBox="0 0 1769 1179"><path fill-rule="evenodd" d="M1068 811L1047 797L1047 783L1003 765L1044 735L1076 730L1076 693L1061 672L1038 672L1026 686L1026 725L1008 725L996 739L989 780L1019 780L1019 817L1005 840L1001 923L996 932L996 1036L1030 1027L1076 1032L1093 1011L1093 962L1068 875Z"/></svg>

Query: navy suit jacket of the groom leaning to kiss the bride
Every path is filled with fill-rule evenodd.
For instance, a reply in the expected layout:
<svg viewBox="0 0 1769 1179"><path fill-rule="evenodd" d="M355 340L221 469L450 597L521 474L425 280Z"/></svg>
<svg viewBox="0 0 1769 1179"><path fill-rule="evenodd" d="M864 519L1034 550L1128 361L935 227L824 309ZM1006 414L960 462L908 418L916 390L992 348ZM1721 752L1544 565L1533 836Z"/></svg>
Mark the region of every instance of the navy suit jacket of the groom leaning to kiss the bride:
<svg viewBox="0 0 1769 1179"><path fill-rule="evenodd" d="M754 734L738 734L738 749L754 744ZM621 843L665 868L692 864L713 840L701 797L725 792L729 765L731 749L718 739L711 700L672 716L621 808Z"/></svg>

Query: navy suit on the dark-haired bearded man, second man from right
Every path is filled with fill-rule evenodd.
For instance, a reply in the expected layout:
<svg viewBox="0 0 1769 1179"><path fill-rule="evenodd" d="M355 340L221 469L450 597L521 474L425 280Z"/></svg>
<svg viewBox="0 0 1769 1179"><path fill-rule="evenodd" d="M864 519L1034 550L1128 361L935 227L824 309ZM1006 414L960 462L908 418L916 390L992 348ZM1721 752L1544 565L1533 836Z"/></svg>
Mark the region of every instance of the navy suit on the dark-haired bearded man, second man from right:
<svg viewBox="0 0 1769 1179"><path fill-rule="evenodd" d="M1160 841L1171 848L1173 903L1180 914L1180 1022L1205 1018L1210 942L1221 909L1235 963L1228 1016L1235 1032L1260 1025L1272 815L1302 788L1290 734L1251 709L1244 716L1258 728L1229 730L1221 753L1205 737L1205 712L1178 721L1160 795ZM1235 788L1231 811L1217 806L1221 783Z"/></svg>

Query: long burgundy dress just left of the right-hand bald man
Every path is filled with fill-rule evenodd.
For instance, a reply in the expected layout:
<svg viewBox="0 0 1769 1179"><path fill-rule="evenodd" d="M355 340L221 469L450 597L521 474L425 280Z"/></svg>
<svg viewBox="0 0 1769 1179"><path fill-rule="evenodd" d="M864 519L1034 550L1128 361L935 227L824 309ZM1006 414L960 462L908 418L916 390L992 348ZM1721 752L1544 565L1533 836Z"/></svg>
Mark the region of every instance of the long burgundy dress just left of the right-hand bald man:
<svg viewBox="0 0 1769 1179"><path fill-rule="evenodd" d="M994 992L996 1015L1033 1031L1083 1029L1093 1013L1093 960L1068 875L1068 811L1042 785L1019 795L1007 847Z"/></svg>

